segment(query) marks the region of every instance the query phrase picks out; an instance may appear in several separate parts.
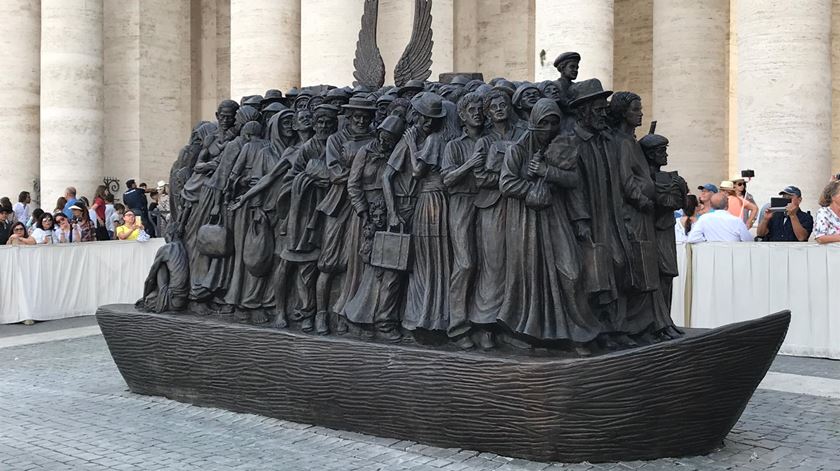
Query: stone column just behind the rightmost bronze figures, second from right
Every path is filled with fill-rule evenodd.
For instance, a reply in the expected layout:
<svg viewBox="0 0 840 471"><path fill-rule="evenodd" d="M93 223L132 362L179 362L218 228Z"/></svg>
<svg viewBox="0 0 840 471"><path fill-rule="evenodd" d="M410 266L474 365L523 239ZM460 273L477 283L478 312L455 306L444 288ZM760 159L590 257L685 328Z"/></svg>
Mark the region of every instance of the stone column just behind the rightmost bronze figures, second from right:
<svg viewBox="0 0 840 471"><path fill-rule="evenodd" d="M643 105L671 142L670 167L692 187L729 177L728 34L729 0L654 1L653 106Z"/></svg>

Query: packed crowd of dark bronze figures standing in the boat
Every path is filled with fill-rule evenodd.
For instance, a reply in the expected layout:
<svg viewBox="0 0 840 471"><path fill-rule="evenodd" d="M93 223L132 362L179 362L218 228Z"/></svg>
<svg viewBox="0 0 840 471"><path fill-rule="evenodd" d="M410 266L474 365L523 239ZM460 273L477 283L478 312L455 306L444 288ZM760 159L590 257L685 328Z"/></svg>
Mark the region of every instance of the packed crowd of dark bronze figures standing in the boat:
<svg viewBox="0 0 840 471"><path fill-rule="evenodd" d="M562 59L562 60L561 60ZM224 100L173 165L138 306L317 334L587 354L670 318L668 140L631 92L455 76ZM565 62L563 62L565 61Z"/></svg>

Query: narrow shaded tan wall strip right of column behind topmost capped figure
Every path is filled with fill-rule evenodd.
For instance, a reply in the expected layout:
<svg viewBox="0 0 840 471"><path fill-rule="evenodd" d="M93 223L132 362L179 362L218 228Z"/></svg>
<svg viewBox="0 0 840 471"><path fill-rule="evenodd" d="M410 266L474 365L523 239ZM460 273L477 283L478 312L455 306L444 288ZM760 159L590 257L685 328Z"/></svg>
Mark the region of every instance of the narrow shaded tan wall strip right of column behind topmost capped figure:
<svg viewBox="0 0 840 471"><path fill-rule="evenodd" d="M647 134L653 114L653 0L615 1L613 89L642 97L645 114L639 137ZM554 57L551 58L554 60ZM554 77L558 77L554 71Z"/></svg>

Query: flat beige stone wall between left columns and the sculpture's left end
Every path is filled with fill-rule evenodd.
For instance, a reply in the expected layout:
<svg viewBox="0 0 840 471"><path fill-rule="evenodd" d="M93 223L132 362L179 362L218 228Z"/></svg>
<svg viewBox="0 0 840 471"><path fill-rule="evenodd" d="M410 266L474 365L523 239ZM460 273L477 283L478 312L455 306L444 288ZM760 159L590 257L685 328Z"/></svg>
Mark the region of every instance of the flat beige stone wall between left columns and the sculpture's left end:
<svg viewBox="0 0 840 471"><path fill-rule="evenodd" d="M168 181L192 121L190 3L105 2L104 25L105 174Z"/></svg>

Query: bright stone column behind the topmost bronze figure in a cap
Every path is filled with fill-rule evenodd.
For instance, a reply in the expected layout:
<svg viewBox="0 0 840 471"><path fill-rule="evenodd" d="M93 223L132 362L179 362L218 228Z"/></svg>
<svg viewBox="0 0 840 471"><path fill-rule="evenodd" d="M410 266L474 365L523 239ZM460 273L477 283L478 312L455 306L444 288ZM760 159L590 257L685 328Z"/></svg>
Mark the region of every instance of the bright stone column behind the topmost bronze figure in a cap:
<svg viewBox="0 0 840 471"><path fill-rule="evenodd" d="M595 77L611 89L613 0L536 0L535 7L536 80L559 77L554 59L577 51L581 55L578 80Z"/></svg>

